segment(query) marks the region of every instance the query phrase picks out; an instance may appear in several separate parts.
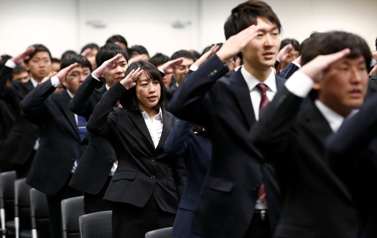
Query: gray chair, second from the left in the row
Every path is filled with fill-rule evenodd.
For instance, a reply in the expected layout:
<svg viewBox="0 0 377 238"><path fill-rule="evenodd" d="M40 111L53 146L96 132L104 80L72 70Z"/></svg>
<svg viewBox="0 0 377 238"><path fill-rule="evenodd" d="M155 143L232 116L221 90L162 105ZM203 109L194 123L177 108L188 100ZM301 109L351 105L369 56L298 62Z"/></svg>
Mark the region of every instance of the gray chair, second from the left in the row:
<svg viewBox="0 0 377 238"><path fill-rule="evenodd" d="M14 224L16 238L31 238L30 189L26 178L14 181Z"/></svg>

